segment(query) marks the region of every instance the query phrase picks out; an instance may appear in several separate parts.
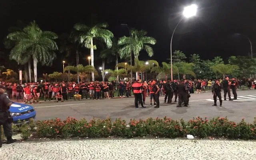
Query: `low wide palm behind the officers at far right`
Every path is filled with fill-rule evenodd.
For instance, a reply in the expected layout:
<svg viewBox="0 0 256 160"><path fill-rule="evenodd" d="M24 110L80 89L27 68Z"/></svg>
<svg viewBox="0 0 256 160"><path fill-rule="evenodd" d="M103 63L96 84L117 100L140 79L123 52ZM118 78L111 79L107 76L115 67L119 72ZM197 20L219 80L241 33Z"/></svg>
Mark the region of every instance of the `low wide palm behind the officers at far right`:
<svg viewBox="0 0 256 160"><path fill-rule="evenodd" d="M239 67L237 65L232 65L232 64L216 64L216 65L211 67L212 71L216 75L217 74L222 74L223 79L225 78L226 74L232 74L238 68Z"/></svg>

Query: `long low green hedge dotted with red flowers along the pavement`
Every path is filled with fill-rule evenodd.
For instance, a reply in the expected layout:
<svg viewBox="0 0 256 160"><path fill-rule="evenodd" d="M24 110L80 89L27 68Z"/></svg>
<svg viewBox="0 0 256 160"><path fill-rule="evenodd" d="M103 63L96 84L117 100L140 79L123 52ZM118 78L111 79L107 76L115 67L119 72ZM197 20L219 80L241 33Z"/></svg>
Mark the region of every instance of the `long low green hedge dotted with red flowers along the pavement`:
<svg viewBox="0 0 256 160"><path fill-rule="evenodd" d="M22 138L27 139L32 133L39 138L106 138L114 137L143 137L157 136L166 138L184 137L187 134L206 137L225 137L228 139L254 139L256 140L256 118L253 124L241 120L239 123L229 121L227 118L217 117L208 120L206 117L196 117L188 122L183 119L177 121L171 118L148 118L146 120L131 119L128 124L125 120L117 118L114 122L109 117L106 119L76 120L68 117L52 120L32 120L29 124L23 124L16 128L22 133Z"/></svg>

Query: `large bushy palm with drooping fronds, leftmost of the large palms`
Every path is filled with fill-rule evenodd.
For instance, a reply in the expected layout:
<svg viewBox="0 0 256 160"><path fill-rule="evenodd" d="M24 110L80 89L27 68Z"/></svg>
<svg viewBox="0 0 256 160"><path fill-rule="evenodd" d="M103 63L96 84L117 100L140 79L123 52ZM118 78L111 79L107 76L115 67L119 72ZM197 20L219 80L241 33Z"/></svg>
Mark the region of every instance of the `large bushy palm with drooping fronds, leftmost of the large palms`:
<svg viewBox="0 0 256 160"><path fill-rule="evenodd" d="M10 33L7 38L17 42L10 52L10 58L19 57L22 62L25 60L30 62L29 59L33 58L34 81L37 82L38 61L42 65L52 65L52 61L56 58L54 50L58 50L58 46L54 39L58 38L57 34L42 31L34 21L22 32Z"/></svg>

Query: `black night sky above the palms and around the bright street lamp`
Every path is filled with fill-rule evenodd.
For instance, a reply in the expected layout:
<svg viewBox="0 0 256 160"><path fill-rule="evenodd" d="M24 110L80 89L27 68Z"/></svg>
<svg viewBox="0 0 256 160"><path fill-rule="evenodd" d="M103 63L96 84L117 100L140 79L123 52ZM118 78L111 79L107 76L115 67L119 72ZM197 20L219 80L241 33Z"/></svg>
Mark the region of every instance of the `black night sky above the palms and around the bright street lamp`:
<svg viewBox="0 0 256 160"><path fill-rule="evenodd" d="M149 58L144 52L141 60L154 59L158 62L170 58L170 37L178 21L182 18L184 6L198 5L197 16L183 20L178 26L173 39L173 50L181 50L187 56L197 53L202 59L231 55L247 56L250 43L256 42L256 1L255 0L1 0L0 2L0 39L8 34L8 28L15 26L17 20L26 23L36 20L42 30L57 33L70 33L77 22L108 22L114 36L128 36L129 32L121 23L130 28L144 29L148 36L156 38L153 46L154 56ZM253 47L253 50L256 47ZM0 44L0 51L8 53ZM85 49L83 57L89 55ZM254 55L255 56L255 55ZM75 57L74 57L75 58ZM52 67L40 67L42 72L62 70L61 58ZM88 62L80 58L80 63ZM60 65L56 65L60 64ZM100 66L100 60L95 66ZM2 65L2 62L0 62ZM106 68L114 64L106 65ZM39 75L40 77L40 75Z"/></svg>

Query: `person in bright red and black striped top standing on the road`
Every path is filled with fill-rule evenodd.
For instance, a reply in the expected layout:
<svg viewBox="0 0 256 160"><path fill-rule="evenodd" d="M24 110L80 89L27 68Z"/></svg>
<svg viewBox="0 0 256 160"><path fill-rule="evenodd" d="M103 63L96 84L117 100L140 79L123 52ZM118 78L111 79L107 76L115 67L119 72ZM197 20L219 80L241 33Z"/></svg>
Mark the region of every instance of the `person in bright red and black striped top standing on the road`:
<svg viewBox="0 0 256 160"><path fill-rule="evenodd" d="M140 103L142 108L146 108L143 105L143 101L142 101L142 89L143 86L140 83L140 80L136 80L136 82L134 84L132 84L132 88L133 88L133 94L134 94L134 103L135 103L135 108L139 108L138 107L138 102Z"/></svg>

